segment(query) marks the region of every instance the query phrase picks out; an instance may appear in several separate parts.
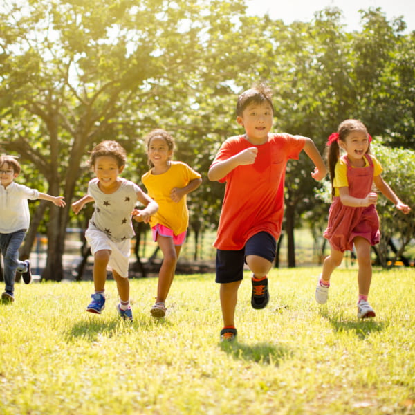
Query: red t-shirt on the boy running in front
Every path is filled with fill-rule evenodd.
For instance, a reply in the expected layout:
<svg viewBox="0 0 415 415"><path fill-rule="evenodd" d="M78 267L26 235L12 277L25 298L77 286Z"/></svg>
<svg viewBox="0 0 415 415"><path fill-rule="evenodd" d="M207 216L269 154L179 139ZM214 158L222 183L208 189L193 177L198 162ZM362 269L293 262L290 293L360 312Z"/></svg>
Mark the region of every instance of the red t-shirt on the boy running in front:
<svg viewBox="0 0 415 415"><path fill-rule="evenodd" d="M275 239L281 233L284 216L284 178L288 159L298 159L305 140L290 134L268 134L268 141L254 146L245 136L223 142L212 165L227 160L244 149L257 147L253 165L238 166L221 178L226 182L221 218L214 246L240 250L258 232Z"/></svg>

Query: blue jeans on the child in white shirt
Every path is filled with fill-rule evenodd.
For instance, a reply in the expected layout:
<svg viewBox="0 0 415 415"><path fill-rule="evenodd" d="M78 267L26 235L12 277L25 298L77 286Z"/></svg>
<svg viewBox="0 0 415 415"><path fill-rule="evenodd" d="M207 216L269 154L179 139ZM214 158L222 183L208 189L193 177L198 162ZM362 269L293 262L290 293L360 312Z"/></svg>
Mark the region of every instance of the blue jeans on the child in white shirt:
<svg viewBox="0 0 415 415"><path fill-rule="evenodd" d="M25 235L25 229L12 232L11 234L0 234L0 252L3 254L3 277L6 291L13 292L15 289L17 267L19 267L19 272L26 270L26 264L19 261L19 248Z"/></svg>

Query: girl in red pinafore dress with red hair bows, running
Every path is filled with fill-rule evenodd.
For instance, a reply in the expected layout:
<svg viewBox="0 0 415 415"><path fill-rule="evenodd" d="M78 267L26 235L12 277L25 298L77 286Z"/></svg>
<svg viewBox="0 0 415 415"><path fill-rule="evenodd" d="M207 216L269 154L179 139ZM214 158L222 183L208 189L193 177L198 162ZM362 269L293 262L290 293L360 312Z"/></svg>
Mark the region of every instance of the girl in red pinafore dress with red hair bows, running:
<svg viewBox="0 0 415 415"><path fill-rule="evenodd" d="M344 120L338 132L329 136L327 161L333 203L324 237L330 242L331 253L324 259L322 275L315 288L316 301L326 304L331 273L342 263L344 251L353 250L354 246L358 259L358 318L376 315L367 302L372 277L371 246L380 240L375 208L378 194L372 190L373 183L396 209L405 214L411 210L380 176L382 167L369 154L370 142L371 136L358 120ZM340 149L345 152L343 156L340 156Z"/></svg>

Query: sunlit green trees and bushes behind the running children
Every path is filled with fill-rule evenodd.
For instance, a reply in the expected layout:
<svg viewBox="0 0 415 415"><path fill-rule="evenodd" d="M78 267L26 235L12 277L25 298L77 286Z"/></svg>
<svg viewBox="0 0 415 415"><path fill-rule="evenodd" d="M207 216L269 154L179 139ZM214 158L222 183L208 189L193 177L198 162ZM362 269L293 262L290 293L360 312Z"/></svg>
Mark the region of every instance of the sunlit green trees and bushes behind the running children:
<svg viewBox="0 0 415 415"><path fill-rule="evenodd" d="M82 231L93 207L75 217L71 202L92 177L88 151L118 140L129 154L123 176L140 184L148 169L143 138L157 127L176 139L174 158L203 175L188 198L192 252L182 259L212 261L207 246L224 186L208 181L208 168L221 142L242 132L234 121L238 94L259 81L274 91L273 131L311 137L322 153L342 120L362 120L383 176L414 205L415 36L405 19L371 7L360 10L360 26L351 29L335 6L290 23L262 15L260 5L255 15L252 7L233 0L3 3L0 150L19 156L17 182L67 203L64 209L30 203L20 253L22 259L42 253L42 280L67 277L64 255L73 253L74 235L80 267L71 266L71 275L82 279L86 270ZM312 170L306 157L288 164L276 266L319 264L326 253L330 186L328 179L315 183ZM382 241L374 263L413 264L414 213L405 216L382 197L378 211ZM148 228L137 225L136 233L133 270L145 275L143 264L157 254L146 249Z"/></svg>

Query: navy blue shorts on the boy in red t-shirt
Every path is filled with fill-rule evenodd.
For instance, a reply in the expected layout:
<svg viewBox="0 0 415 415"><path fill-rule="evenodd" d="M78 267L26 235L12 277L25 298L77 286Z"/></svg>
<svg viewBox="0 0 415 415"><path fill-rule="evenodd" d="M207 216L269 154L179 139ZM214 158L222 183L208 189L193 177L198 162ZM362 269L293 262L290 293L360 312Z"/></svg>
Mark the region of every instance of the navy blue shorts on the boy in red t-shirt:
<svg viewBox="0 0 415 415"><path fill-rule="evenodd" d="M277 244L273 235L259 232L246 241L241 250L216 250L216 282L219 284L241 281L247 255L257 255L273 262Z"/></svg>

